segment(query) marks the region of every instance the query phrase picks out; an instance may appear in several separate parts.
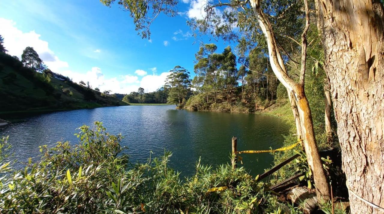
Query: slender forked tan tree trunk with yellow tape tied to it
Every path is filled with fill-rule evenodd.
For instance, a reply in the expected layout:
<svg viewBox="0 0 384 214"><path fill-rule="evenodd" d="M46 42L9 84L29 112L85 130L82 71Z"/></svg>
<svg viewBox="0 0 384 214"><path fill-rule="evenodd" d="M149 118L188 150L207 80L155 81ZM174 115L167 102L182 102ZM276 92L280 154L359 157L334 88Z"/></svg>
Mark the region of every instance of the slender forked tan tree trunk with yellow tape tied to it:
<svg viewBox="0 0 384 214"><path fill-rule="evenodd" d="M255 17L258 20L259 26L266 38L268 46L268 54L270 57L270 65L275 73L276 77L285 86L288 91L288 97L290 97L292 111L295 116L296 127L301 128L301 134L298 137L303 138L305 153L307 155L308 165L313 171L313 179L316 187L316 195L319 201L326 201L330 199L330 189L326 178L326 174L323 169L323 164L319 156L319 151L316 145L316 139L314 137L313 121L310 106L304 92L304 77L305 77L305 61L306 61L306 31L309 27L309 13L306 0L306 28L302 36L302 68L300 75L300 83L296 83L286 71L283 58L278 51L278 46L273 34L271 23L260 8L259 0L250 0L250 4L255 13ZM296 104L295 104L296 103ZM296 108L297 106L297 112ZM299 117L297 117L297 115ZM298 124L300 123L300 124Z"/></svg>

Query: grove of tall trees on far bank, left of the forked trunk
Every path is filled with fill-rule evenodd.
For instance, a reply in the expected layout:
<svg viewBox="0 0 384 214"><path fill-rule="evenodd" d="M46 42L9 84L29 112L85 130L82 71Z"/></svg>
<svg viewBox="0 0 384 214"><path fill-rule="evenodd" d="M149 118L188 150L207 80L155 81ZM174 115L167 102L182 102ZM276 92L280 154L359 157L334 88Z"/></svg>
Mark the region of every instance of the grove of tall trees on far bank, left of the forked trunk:
<svg viewBox="0 0 384 214"><path fill-rule="evenodd" d="M195 54L192 87L196 89L195 95L204 95L204 104L208 104L200 103L206 106L204 110L212 103L242 103L257 111L260 105L273 103L279 81L260 49L255 48L243 57L238 57L230 46L222 53L215 51L215 44L204 44Z"/></svg>

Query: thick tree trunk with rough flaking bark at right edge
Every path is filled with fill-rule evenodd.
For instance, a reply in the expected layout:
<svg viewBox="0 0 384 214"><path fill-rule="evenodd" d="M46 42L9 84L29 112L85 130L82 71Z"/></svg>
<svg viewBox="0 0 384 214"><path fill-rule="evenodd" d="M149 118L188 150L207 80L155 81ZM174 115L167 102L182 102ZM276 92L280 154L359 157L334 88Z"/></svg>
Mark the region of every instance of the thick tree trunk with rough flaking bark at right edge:
<svg viewBox="0 0 384 214"><path fill-rule="evenodd" d="M366 202L384 207L383 6L380 0L315 2L351 213L383 213Z"/></svg>

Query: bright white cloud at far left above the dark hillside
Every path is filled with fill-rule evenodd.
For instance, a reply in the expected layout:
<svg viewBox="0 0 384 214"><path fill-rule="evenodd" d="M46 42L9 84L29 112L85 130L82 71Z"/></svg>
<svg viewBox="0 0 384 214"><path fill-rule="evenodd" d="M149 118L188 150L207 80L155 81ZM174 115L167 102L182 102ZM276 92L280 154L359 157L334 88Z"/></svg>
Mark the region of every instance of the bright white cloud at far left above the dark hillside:
<svg viewBox="0 0 384 214"><path fill-rule="evenodd" d="M23 33L15 27L13 20L0 18L0 35L4 38L4 46L8 50L8 54L21 58L23 50L30 46L40 56L41 60L54 72L58 72L61 68L67 68L68 63L61 61L58 56L48 47L48 42L41 40L39 34L34 30Z"/></svg>

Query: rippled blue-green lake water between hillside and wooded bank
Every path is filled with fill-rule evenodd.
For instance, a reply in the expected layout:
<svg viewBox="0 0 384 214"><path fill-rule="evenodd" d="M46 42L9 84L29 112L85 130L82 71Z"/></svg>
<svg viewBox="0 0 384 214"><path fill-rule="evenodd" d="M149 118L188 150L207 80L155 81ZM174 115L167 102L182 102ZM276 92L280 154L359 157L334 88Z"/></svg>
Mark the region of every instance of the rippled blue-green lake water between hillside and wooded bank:
<svg viewBox="0 0 384 214"><path fill-rule="evenodd" d="M77 143L73 134L84 124L102 121L109 133L122 133L131 161L144 162L152 156L172 151L170 166L183 176L194 173L195 163L216 166L230 161L231 138L237 136L238 150L279 148L288 126L280 119L258 114L197 112L176 110L173 105L118 106L60 111L25 118L23 122L0 128L9 135L19 161L38 159L38 146L57 141ZM272 164L268 153L242 154L243 166L252 174L262 173Z"/></svg>

